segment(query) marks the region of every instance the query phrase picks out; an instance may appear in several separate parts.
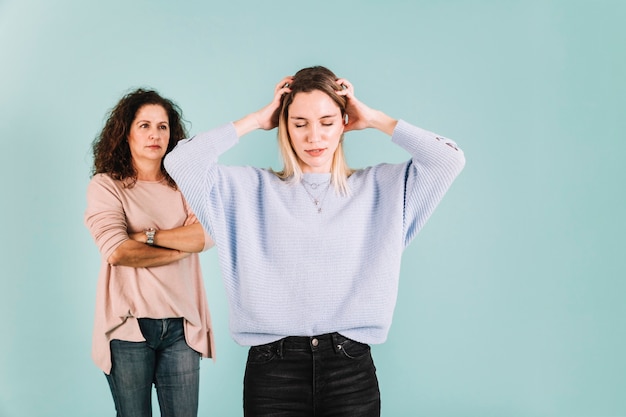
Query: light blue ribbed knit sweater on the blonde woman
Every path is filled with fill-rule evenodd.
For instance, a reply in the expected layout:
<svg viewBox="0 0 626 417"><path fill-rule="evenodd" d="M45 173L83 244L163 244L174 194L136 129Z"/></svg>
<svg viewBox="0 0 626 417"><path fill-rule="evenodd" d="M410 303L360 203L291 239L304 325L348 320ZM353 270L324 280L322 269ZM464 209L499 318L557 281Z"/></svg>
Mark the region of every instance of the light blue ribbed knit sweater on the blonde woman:
<svg viewBox="0 0 626 417"><path fill-rule="evenodd" d="M266 169L224 166L238 142L232 124L180 141L165 167L213 237L241 345L339 332L362 343L387 338L403 250L465 164L441 136L399 121L392 141L409 152L348 179L350 196L320 195ZM322 183L330 174L305 174ZM323 194L326 184L309 192Z"/></svg>

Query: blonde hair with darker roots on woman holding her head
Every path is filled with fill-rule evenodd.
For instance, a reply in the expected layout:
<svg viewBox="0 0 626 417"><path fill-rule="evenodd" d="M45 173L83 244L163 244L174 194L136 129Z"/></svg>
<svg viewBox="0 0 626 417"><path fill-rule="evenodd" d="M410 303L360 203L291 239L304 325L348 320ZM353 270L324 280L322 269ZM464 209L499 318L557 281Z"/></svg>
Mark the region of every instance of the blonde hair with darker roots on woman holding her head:
<svg viewBox="0 0 626 417"><path fill-rule="evenodd" d="M298 93L309 93L319 90L326 93L339 107L341 118L344 120L346 115L347 99L337 94L341 89L337 85L337 76L321 66L309 67L301 69L294 75L292 83L289 85L291 92L282 97L280 114L278 117L278 147L283 158L282 171L275 172L281 179L289 179L290 181L300 182L302 180L302 169L298 163L298 156L291 144L289 131L287 130L287 121L289 120L289 106L293 103L293 99ZM335 190L341 195L348 195L347 179L354 170L352 170L346 162L345 153L343 151L343 134L339 139L339 145L333 155L333 162L330 168L330 182Z"/></svg>

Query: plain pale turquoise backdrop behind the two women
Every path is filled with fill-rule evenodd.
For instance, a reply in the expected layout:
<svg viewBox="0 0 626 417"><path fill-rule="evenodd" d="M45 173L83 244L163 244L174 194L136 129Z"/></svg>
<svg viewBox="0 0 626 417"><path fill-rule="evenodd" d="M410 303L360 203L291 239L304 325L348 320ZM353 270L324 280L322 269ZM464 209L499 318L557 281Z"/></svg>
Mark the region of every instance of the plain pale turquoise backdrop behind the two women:
<svg viewBox="0 0 626 417"><path fill-rule="evenodd" d="M83 225L106 111L149 86L199 132L314 64L467 157L373 348L383 416L626 416L625 21L621 0L0 0L0 416L114 415ZM346 141L355 167L407 158L375 131ZM274 133L225 161L279 167ZM216 259L200 415L238 416Z"/></svg>

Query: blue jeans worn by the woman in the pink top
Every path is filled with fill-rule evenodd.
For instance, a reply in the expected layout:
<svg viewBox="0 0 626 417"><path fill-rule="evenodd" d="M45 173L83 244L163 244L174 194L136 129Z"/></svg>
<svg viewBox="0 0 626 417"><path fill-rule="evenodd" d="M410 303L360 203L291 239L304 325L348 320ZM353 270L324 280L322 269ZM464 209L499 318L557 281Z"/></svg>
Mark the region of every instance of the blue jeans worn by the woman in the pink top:
<svg viewBox="0 0 626 417"><path fill-rule="evenodd" d="M111 341L106 375L117 417L151 417L152 384L162 417L196 417L200 354L185 342L183 319L139 319L145 342Z"/></svg>

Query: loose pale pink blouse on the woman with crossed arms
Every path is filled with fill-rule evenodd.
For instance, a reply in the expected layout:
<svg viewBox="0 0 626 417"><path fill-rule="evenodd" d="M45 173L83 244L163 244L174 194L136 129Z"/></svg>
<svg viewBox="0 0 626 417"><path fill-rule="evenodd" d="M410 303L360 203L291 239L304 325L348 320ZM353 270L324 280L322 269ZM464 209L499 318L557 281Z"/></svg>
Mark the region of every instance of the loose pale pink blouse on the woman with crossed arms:
<svg viewBox="0 0 626 417"><path fill-rule="evenodd" d="M137 181L132 188L125 188L122 181L107 174L92 178L87 187L85 224L102 259L92 357L105 373L111 372L111 340L145 340L138 318L183 317L187 344L202 357L214 357L211 316L197 253L150 268L112 266L107 262L115 249L129 239L129 233L148 227L173 229L197 222L180 191L165 182ZM204 250L210 247L208 235L205 242Z"/></svg>

